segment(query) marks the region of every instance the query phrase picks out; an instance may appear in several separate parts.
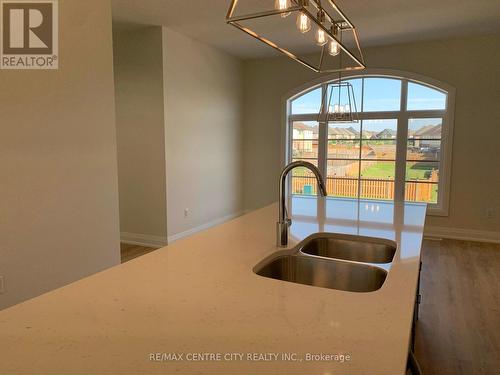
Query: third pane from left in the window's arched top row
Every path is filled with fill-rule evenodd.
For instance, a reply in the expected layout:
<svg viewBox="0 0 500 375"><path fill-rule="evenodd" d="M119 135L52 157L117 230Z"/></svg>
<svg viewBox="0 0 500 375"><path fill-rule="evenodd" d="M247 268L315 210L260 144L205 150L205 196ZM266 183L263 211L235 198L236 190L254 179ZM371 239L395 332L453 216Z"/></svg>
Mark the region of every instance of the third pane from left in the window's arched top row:
<svg viewBox="0 0 500 375"><path fill-rule="evenodd" d="M365 78L364 112L399 111L401 81L390 78Z"/></svg>

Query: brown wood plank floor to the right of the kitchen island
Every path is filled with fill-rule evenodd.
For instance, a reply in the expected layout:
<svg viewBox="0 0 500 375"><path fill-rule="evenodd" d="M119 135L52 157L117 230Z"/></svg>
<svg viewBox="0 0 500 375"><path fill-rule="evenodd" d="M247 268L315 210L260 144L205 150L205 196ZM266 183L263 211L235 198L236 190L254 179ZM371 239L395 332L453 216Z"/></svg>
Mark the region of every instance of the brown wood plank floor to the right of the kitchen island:
<svg viewBox="0 0 500 375"><path fill-rule="evenodd" d="M422 372L500 374L500 245L426 240L422 262Z"/></svg>

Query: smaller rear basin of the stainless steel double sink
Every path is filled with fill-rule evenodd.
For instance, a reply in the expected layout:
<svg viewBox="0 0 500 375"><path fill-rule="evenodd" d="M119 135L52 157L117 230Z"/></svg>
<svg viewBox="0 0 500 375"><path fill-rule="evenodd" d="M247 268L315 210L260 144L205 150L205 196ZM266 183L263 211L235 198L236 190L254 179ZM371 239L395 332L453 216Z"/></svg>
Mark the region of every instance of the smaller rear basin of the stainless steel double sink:
<svg viewBox="0 0 500 375"><path fill-rule="evenodd" d="M341 234L318 233L305 239L304 254L364 263L390 263L396 253L392 241Z"/></svg>

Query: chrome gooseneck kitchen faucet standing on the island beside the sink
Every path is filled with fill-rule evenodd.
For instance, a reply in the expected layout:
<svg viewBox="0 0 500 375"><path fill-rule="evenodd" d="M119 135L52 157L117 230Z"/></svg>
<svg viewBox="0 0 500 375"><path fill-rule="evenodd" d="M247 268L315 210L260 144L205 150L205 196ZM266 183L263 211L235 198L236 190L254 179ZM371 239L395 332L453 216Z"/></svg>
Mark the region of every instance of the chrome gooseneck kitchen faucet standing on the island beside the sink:
<svg viewBox="0 0 500 375"><path fill-rule="evenodd" d="M288 245L288 227L292 225L292 220L288 217L288 212L286 210L286 197L285 197L285 188L286 188L286 176L288 173L297 167L304 167L309 169L314 176L316 176L316 180L318 182L318 187L321 195L326 197L328 193L326 192L325 183L323 181L323 177L321 176L321 172L319 169L311 163L305 161L295 161L293 163L288 164L283 172L281 172L281 177L279 180L279 212L278 212L278 223L276 224L276 233L277 233L277 246L286 247Z"/></svg>

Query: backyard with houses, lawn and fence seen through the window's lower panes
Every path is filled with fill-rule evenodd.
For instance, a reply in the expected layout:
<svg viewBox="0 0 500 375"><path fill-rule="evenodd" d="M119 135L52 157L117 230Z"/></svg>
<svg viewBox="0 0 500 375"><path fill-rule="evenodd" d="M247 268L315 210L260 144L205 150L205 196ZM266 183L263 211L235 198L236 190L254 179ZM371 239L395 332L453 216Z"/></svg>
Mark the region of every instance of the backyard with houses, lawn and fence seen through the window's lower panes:
<svg viewBox="0 0 500 375"><path fill-rule="evenodd" d="M370 121L366 121L370 128ZM328 140L328 193L339 197L393 199L395 179L396 133L386 128L381 132L363 131L363 138L351 124L330 125ZM437 202L439 139L423 141L430 131L441 125L424 125L411 134L406 166L406 199ZM424 130L424 131L422 131ZM318 125L294 124L293 160L318 163ZM369 138L368 138L369 137ZM429 137L429 136L427 136ZM435 145L429 144L434 142ZM293 174L293 194L316 194L314 176L307 169ZM360 191L359 191L360 189Z"/></svg>

